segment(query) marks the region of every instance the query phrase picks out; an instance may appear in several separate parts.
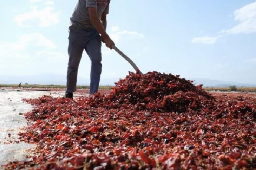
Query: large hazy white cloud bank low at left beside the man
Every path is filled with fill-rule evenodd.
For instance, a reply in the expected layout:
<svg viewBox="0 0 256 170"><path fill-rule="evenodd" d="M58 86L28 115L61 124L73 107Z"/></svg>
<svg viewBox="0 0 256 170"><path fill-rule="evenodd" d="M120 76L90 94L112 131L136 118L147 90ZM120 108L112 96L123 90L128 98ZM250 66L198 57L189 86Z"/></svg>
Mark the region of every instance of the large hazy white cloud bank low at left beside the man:
<svg viewBox="0 0 256 170"><path fill-rule="evenodd" d="M0 44L0 70L12 69L15 74L27 71L55 69L56 64L67 62L67 55L57 52L55 44L40 33L30 33L20 36L16 41ZM40 71L40 72L41 72Z"/></svg>

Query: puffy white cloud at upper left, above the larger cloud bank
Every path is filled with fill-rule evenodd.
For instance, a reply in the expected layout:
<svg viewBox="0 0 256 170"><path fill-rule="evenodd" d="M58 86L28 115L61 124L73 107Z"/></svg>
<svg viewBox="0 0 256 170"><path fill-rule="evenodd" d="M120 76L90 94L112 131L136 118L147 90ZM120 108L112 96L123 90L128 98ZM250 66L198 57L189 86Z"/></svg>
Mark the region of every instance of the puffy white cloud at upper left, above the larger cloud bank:
<svg viewBox="0 0 256 170"><path fill-rule="evenodd" d="M42 10L38 10L37 6L31 7L30 11L16 16L14 21L20 27L30 27L31 22L37 22L40 27L49 27L59 23L60 12L53 12L53 10L51 6L46 6Z"/></svg>

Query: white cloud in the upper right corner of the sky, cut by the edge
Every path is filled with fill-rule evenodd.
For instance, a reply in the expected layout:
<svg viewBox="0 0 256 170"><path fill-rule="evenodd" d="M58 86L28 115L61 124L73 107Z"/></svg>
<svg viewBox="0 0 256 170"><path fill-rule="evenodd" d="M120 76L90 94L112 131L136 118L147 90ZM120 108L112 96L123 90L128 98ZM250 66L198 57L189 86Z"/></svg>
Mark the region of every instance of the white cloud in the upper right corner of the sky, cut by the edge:
<svg viewBox="0 0 256 170"><path fill-rule="evenodd" d="M256 2L234 11L234 17L240 23L231 29L222 30L221 33L238 34L256 32Z"/></svg>

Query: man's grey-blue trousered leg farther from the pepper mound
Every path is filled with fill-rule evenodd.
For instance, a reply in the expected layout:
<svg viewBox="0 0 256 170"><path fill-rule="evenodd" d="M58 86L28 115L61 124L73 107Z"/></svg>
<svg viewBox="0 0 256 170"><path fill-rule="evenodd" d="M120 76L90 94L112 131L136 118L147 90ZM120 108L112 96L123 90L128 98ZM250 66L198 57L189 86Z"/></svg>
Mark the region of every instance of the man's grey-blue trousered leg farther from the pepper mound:
<svg viewBox="0 0 256 170"><path fill-rule="evenodd" d="M84 50L83 42L77 35L77 31L70 29L69 33L69 63L67 71L67 92L69 93L76 91L77 71Z"/></svg>

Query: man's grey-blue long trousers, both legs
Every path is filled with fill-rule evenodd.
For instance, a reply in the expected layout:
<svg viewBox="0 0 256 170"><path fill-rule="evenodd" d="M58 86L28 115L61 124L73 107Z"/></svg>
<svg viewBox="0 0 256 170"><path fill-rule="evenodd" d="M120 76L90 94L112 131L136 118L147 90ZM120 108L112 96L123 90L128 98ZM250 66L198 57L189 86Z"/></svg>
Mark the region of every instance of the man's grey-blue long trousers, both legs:
<svg viewBox="0 0 256 170"><path fill-rule="evenodd" d="M100 35L96 29L74 29L70 27L67 92L76 91L77 71L84 50L91 60L90 94L98 91L102 69Z"/></svg>

